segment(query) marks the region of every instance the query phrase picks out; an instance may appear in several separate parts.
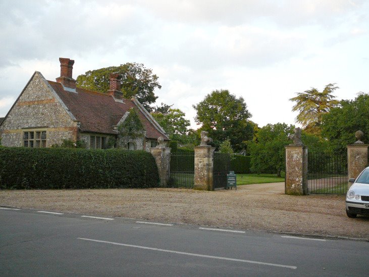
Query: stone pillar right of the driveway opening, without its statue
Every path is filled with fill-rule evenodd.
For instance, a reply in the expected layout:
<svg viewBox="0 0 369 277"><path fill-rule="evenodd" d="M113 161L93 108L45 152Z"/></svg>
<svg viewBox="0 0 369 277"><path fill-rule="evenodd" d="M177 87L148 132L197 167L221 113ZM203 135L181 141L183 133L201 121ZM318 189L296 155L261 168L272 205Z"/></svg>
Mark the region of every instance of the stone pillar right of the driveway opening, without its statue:
<svg viewBox="0 0 369 277"><path fill-rule="evenodd" d="M288 145L285 148L285 194L307 195L307 148L303 145Z"/></svg>

